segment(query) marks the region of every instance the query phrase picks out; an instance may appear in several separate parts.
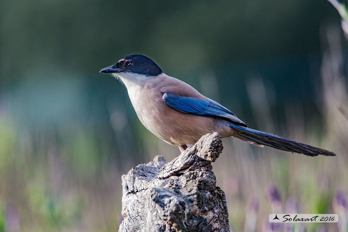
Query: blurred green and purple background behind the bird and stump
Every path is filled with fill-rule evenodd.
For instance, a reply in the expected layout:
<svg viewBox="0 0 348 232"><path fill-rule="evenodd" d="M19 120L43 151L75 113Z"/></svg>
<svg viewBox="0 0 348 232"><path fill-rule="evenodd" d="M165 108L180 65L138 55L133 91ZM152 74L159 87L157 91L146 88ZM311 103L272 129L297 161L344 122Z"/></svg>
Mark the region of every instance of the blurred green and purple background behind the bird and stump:
<svg viewBox="0 0 348 232"><path fill-rule="evenodd" d="M224 139L213 171L232 230L347 231L347 40L326 0L3 0L0 17L0 232L118 230L121 175L179 155L141 125L126 88L98 73L130 54L251 128L337 154ZM279 211L343 223L271 228Z"/></svg>

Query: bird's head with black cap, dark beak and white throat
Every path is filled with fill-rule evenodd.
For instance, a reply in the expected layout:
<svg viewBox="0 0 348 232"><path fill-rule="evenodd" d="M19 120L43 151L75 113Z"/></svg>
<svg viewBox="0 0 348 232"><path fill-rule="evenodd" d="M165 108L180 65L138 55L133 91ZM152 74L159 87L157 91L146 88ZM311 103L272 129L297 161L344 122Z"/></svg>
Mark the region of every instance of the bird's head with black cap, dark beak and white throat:
<svg viewBox="0 0 348 232"><path fill-rule="evenodd" d="M106 67L100 72L111 73L122 81L144 81L163 73L161 68L147 56L129 55L120 59L116 64Z"/></svg>

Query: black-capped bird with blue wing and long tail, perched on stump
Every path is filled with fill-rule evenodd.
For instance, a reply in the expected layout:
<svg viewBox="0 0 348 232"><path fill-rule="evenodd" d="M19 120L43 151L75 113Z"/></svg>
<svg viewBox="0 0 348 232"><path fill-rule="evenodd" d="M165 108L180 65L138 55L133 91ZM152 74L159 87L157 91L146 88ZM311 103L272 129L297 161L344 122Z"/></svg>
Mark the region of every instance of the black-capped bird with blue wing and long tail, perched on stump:
<svg viewBox="0 0 348 232"><path fill-rule="evenodd" d="M166 75L147 56L134 54L100 70L122 82L142 124L166 143L183 152L203 135L217 132L257 146L334 156L335 153L277 135L248 128L221 104L200 94L189 84Z"/></svg>

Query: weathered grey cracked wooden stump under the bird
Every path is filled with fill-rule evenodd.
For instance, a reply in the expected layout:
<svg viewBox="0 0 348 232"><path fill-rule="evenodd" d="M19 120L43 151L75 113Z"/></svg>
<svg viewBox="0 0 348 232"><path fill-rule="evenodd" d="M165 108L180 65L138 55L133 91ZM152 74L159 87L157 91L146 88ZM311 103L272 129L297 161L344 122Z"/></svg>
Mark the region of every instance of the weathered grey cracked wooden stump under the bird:
<svg viewBox="0 0 348 232"><path fill-rule="evenodd" d="M211 166L221 151L220 135L207 134L169 163L158 155L122 175L119 231L230 231Z"/></svg>

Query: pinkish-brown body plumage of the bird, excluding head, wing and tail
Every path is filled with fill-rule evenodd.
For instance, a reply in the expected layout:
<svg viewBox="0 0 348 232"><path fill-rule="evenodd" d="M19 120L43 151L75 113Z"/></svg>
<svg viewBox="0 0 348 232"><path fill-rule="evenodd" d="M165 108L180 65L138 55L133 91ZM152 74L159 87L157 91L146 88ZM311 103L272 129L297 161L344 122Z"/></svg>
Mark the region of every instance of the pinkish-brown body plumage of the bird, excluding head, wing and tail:
<svg viewBox="0 0 348 232"><path fill-rule="evenodd" d="M201 136L215 131L222 137L235 133L226 120L184 113L166 105L162 100L164 93L207 99L183 81L161 74L147 81L139 91L132 104L140 121L169 144L194 144Z"/></svg>

